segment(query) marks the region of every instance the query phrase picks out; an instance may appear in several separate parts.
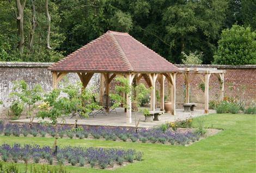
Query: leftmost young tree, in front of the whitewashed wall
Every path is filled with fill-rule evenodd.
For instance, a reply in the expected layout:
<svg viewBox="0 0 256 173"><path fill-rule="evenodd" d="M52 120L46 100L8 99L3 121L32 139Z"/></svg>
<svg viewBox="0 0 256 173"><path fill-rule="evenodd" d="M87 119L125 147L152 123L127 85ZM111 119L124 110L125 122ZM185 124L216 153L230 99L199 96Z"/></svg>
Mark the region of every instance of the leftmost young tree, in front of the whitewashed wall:
<svg viewBox="0 0 256 173"><path fill-rule="evenodd" d="M32 126L32 122L35 118L33 110L36 108L36 104L42 100L42 88L41 85L36 84L32 89L28 88L28 84L21 81L14 81L14 92L11 92L11 97L16 97L25 106L28 106L27 116L29 116L29 125Z"/></svg>

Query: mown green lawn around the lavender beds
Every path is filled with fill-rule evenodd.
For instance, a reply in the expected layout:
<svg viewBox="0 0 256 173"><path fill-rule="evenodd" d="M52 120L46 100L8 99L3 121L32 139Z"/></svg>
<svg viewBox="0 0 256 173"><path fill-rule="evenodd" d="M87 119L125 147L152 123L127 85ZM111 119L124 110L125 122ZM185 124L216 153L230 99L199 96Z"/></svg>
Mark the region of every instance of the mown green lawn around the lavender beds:
<svg viewBox="0 0 256 173"><path fill-rule="evenodd" d="M123 147L144 153L142 162L115 170L68 166L70 172L256 172L255 115L211 114L206 116L206 126L224 131L190 146L88 139L59 139L58 144ZM1 136L0 142L52 145L53 141L53 138Z"/></svg>

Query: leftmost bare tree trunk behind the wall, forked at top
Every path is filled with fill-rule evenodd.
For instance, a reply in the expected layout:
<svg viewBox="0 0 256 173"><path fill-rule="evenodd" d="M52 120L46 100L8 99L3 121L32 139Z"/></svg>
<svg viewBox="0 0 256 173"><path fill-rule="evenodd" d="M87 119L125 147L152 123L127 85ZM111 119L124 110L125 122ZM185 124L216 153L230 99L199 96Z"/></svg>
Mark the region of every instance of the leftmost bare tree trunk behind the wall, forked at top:
<svg viewBox="0 0 256 173"><path fill-rule="evenodd" d="M24 8L25 8L26 0L21 4L21 0L16 0L17 7L17 35L19 37L18 48L19 52L22 55L24 50L25 38L24 38Z"/></svg>

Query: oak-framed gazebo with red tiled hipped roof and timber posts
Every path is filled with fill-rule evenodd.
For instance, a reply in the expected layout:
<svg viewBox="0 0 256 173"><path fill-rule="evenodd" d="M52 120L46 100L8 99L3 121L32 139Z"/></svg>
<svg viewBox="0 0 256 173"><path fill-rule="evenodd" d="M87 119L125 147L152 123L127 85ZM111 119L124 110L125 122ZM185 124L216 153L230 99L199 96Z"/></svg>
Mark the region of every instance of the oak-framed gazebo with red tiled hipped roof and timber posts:
<svg viewBox="0 0 256 173"><path fill-rule="evenodd" d="M126 77L131 85L141 78L152 87L150 110L155 111L156 81L160 82L161 109L164 109L164 80L170 85L172 114L175 115L175 74L178 67L150 50L128 33L108 31L99 38L89 42L48 68L52 72L53 88L68 73L77 73L86 88L94 73L101 73L102 90L109 95L109 85L114 77ZM104 84L104 81L106 84ZM127 107L131 108L131 98L126 96ZM108 102L108 98L106 100ZM131 109L127 109L126 123L131 123Z"/></svg>

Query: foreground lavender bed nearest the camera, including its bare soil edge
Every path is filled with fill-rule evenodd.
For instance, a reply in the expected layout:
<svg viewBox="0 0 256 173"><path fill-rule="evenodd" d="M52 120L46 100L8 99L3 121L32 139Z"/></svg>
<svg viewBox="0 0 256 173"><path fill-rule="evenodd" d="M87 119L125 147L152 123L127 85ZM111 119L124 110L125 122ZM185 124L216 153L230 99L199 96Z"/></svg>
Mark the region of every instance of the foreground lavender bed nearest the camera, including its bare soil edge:
<svg viewBox="0 0 256 173"><path fill-rule="evenodd" d="M131 149L68 146L58 149L56 155L50 146L3 144L0 146L0 155L4 162L92 166L106 169L132 163L134 160L142 160L143 154Z"/></svg>

